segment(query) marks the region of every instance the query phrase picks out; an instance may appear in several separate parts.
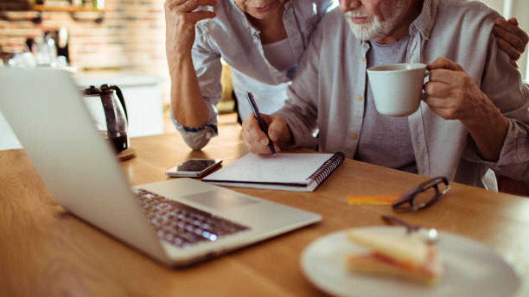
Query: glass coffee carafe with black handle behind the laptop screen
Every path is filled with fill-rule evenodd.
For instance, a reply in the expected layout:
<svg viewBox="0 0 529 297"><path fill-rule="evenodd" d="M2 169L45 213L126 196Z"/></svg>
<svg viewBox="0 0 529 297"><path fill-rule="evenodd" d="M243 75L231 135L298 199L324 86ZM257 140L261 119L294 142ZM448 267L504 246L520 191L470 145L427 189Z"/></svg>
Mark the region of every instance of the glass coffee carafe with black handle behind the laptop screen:
<svg viewBox="0 0 529 297"><path fill-rule="evenodd" d="M110 141L116 152L128 148L127 109L120 88L103 84L98 89L92 85L84 90L84 95L97 129Z"/></svg>

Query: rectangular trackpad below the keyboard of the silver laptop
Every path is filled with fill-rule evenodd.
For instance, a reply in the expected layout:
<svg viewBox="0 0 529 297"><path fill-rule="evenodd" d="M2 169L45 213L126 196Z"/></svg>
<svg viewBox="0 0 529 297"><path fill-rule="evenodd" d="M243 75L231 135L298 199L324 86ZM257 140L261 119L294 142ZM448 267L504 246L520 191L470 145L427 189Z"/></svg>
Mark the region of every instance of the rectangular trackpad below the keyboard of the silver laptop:
<svg viewBox="0 0 529 297"><path fill-rule="evenodd" d="M228 210L233 207L258 203L256 200L224 190L213 190L204 193L183 196L181 199L189 200L191 202L218 210Z"/></svg>

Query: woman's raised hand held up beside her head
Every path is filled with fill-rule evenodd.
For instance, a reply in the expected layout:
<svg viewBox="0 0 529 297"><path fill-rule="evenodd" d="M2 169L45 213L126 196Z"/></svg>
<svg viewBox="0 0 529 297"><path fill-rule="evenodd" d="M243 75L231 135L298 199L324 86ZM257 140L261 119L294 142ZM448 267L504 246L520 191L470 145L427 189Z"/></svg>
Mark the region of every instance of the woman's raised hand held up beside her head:
<svg viewBox="0 0 529 297"><path fill-rule="evenodd" d="M166 18L166 51L169 59L174 55L190 53L195 42L196 23L216 15L209 11L193 11L198 6L216 4L216 0L166 0L163 7Z"/></svg>

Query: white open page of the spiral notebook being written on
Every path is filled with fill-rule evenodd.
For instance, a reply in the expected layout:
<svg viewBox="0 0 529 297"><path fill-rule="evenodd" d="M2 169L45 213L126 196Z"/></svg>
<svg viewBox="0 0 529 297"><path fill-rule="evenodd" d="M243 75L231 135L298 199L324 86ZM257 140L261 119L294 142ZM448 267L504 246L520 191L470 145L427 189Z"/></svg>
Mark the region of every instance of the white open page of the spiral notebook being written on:
<svg viewBox="0 0 529 297"><path fill-rule="evenodd" d="M259 183L306 183L334 154L279 152L275 156L248 154L207 176L205 180Z"/></svg>

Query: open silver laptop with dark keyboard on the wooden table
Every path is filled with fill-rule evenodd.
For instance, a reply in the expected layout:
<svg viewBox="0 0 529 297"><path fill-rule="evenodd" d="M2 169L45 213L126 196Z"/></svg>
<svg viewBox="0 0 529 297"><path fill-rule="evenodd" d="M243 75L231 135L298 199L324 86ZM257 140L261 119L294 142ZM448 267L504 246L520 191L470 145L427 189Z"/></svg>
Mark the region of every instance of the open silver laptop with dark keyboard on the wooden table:
<svg viewBox="0 0 529 297"><path fill-rule="evenodd" d="M131 187L71 74L0 69L0 110L54 199L168 266L187 266L321 215L179 178Z"/></svg>

